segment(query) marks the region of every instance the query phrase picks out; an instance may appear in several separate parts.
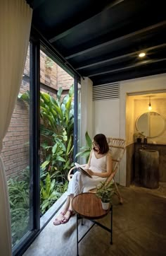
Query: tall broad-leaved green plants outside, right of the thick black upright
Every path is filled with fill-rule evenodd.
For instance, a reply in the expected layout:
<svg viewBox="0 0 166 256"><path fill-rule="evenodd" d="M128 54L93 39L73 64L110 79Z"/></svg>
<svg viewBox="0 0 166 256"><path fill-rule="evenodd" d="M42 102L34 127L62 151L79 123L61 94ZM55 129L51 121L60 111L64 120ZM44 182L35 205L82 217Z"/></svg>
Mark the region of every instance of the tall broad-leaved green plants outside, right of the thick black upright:
<svg viewBox="0 0 166 256"><path fill-rule="evenodd" d="M40 92L41 214L65 192L68 170L73 166L74 86L65 97L62 93L60 88L53 98L49 93ZM29 91L18 98L29 103Z"/></svg>

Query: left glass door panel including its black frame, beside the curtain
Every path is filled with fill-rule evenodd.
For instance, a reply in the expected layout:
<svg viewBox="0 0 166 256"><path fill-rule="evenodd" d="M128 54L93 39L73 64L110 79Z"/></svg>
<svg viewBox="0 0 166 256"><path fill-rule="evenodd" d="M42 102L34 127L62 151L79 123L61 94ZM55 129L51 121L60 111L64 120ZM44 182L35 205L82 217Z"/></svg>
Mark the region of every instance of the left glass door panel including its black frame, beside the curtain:
<svg viewBox="0 0 166 256"><path fill-rule="evenodd" d="M30 43L20 92L1 151L8 182L13 255L22 255L27 244L39 231L39 221L37 222L39 219L39 213L37 213L37 200L39 201L37 131L39 127L37 128L37 122L34 124L39 111L35 106L37 104L37 86L35 85L37 72L34 66L37 69L37 65L34 63L37 62L37 53L33 47L35 48L33 43Z"/></svg>

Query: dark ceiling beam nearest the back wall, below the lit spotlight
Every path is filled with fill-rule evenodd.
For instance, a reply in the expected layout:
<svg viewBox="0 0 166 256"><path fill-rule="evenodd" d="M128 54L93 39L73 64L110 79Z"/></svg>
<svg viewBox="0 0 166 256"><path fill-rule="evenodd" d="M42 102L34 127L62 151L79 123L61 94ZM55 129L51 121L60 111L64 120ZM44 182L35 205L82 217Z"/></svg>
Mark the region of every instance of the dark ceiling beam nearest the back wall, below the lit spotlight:
<svg viewBox="0 0 166 256"><path fill-rule="evenodd" d="M146 65L146 64L152 64L152 63L156 63L156 62L163 62L165 60L166 60L166 58L163 58L163 59L151 59L151 60L146 60L146 61L139 62L137 64L133 64L133 65L129 65L129 66L124 66L124 67L119 68L119 69L111 69L111 70L108 70L108 71L104 71L104 72L100 72L100 73L96 73L96 74L84 75L84 76L88 76L88 77L101 76L103 74L109 74L109 73L113 73L113 72L117 72L117 71L122 71L122 70L126 70L126 69L132 69L132 68L135 68L136 66L143 66L143 65Z"/></svg>

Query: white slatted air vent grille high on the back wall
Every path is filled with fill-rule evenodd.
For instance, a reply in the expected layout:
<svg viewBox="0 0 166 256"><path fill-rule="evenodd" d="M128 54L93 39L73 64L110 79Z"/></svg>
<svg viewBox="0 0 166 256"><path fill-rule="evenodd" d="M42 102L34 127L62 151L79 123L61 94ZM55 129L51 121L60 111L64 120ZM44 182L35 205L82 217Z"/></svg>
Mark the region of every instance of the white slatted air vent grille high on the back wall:
<svg viewBox="0 0 166 256"><path fill-rule="evenodd" d="M120 98L120 84L109 83L93 87L93 100L109 100Z"/></svg>

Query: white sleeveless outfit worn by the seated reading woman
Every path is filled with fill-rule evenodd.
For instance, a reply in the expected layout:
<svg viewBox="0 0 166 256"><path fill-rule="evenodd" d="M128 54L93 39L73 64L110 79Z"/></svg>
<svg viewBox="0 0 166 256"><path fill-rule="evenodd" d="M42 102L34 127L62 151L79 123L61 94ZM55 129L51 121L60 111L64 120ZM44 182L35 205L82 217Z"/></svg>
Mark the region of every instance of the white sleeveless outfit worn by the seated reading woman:
<svg viewBox="0 0 166 256"><path fill-rule="evenodd" d="M106 173L106 156L107 154L101 158L96 158L94 151L92 151L89 169L95 173ZM106 178L101 178L95 175L92 175L92 178L89 178L87 175L84 175L77 170L69 182L67 193L68 195L77 195L82 192L87 192L104 180L106 180Z"/></svg>

